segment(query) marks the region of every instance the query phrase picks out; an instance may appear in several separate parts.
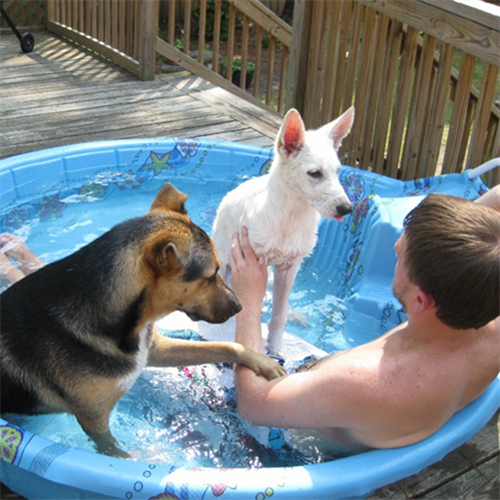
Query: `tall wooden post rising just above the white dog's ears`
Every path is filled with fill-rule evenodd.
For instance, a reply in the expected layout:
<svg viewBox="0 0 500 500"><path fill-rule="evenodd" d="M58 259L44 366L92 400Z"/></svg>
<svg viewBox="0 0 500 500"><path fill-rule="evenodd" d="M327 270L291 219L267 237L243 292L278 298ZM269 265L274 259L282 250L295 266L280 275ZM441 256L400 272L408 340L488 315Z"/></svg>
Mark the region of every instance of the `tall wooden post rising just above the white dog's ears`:
<svg viewBox="0 0 500 500"><path fill-rule="evenodd" d="M311 16L313 3L295 0L293 12L292 47L288 70L285 108L305 111L307 67L309 60L309 39L311 35Z"/></svg>

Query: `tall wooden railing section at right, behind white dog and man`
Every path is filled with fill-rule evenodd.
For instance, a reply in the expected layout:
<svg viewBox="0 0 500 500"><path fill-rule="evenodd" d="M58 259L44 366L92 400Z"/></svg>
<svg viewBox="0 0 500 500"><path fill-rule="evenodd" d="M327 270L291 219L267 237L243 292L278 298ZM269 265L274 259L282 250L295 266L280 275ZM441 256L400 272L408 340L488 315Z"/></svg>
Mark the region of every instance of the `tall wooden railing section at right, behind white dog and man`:
<svg viewBox="0 0 500 500"><path fill-rule="evenodd" d="M414 179L500 156L500 8L455 0L297 0L297 8L287 105L310 127L354 105L345 163ZM490 183L500 182L498 170Z"/></svg>

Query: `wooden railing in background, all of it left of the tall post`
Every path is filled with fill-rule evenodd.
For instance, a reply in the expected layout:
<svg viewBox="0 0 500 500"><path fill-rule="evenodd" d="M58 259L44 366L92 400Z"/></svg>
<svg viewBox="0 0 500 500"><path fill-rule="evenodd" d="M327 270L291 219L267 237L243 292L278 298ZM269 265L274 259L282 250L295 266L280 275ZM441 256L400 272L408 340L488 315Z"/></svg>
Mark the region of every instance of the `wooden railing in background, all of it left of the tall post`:
<svg viewBox="0 0 500 500"><path fill-rule="evenodd" d="M278 8L282 2L267 3ZM172 65L267 111L285 111L291 26L258 0L163 0L163 4L167 18L160 37L156 36L158 0L48 0L47 27L142 79L154 77L156 51ZM238 63L241 70L235 85L232 68ZM252 83L247 85L249 75Z"/></svg>

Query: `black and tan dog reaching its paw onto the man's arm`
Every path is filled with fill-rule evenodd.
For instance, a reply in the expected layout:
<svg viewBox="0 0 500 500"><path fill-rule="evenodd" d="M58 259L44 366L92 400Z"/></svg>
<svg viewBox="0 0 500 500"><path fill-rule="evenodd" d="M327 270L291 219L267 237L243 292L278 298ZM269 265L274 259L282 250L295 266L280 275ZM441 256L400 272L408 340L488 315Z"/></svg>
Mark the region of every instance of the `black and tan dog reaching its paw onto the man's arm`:
<svg viewBox="0 0 500 500"><path fill-rule="evenodd" d="M145 366L229 361L268 379L283 369L231 342L164 337L155 320L183 311L222 323L241 305L218 275L208 235L171 184L149 212L15 283L1 296L2 413L73 413L101 453L127 456L109 415Z"/></svg>

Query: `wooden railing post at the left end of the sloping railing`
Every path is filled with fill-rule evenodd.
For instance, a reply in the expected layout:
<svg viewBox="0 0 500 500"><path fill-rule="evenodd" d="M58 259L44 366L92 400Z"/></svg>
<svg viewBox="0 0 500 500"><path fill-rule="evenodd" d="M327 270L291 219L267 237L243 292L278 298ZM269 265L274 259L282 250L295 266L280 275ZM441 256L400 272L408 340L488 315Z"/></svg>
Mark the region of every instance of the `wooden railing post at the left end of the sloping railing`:
<svg viewBox="0 0 500 500"><path fill-rule="evenodd" d="M155 78L158 9L158 0L141 0L139 21L139 78L141 80L154 80Z"/></svg>

